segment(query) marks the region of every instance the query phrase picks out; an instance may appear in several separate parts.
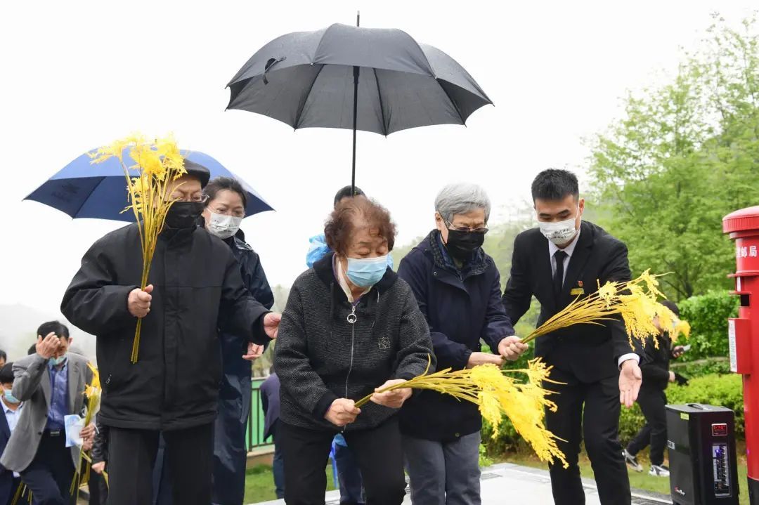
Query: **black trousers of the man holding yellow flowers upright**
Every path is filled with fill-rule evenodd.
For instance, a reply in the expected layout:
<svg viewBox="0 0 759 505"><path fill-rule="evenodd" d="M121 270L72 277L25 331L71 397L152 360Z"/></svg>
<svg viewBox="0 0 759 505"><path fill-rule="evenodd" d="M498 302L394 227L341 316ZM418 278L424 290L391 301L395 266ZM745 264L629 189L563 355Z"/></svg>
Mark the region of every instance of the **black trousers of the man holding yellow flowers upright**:
<svg viewBox="0 0 759 505"><path fill-rule="evenodd" d="M109 431L109 505L143 505L153 501L153 465L159 431L111 427ZM172 498L182 505L211 503L213 423L164 431L172 477Z"/></svg>

